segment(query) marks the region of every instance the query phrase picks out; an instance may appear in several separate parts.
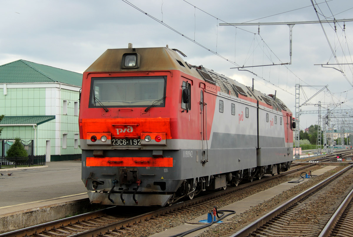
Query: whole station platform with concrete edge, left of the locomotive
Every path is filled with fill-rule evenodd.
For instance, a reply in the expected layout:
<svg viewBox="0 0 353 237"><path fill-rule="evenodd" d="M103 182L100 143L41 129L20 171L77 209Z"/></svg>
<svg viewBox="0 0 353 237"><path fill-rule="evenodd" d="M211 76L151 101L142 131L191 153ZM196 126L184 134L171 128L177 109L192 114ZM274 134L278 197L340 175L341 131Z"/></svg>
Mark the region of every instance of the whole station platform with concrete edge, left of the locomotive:
<svg viewBox="0 0 353 237"><path fill-rule="evenodd" d="M89 205L81 180L81 161L47 162L46 166L38 168L1 169L0 174L0 230L4 230L0 233L22 224L31 226L64 218L70 208ZM61 211L58 211L59 207ZM8 226L11 223L13 227Z"/></svg>

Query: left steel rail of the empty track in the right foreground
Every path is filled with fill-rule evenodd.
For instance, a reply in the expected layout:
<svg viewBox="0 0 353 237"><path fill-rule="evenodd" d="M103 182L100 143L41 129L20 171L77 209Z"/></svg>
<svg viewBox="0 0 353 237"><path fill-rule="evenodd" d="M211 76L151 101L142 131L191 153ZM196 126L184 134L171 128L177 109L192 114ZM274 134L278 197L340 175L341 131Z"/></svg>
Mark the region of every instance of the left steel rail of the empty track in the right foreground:
<svg viewBox="0 0 353 237"><path fill-rule="evenodd" d="M330 182L334 178L342 175L344 172L347 170L351 169L353 165L349 165L346 168L340 170L336 174L326 178L325 180L321 181L320 183L316 184L315 186L305 190L304 192L298 194L297 196L293 197L292 199L286 201L279 207L275 208L271 212L263 215L262 217L258 218L257 220L253 221L249 225L245 226L243 229L239 230L236 232L234 235L231 235L230 237L245 237L250 235L253 231L261 227L262 225L266 224L268 221L270 221L272 218L276 217L278 214L282 213L285 211L287 208L291 207L293 204L298 202L299 200L303 199L303 197L315 192L317 189L321 188L323 185L326 183Z"/></svg>

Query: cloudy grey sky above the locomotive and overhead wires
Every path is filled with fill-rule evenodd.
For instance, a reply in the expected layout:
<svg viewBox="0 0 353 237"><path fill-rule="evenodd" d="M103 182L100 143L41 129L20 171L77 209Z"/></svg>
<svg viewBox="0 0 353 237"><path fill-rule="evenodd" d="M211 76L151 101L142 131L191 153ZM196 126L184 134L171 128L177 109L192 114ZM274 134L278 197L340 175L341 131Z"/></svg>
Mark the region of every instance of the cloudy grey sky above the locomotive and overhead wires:
<svg viewBox="0 0 353 237"><path fill-rule="evenodd" d="M277 91L293 114L295 84L303 86L300 104L327 85L308 103L353 109L353 66L329 65L337 70L314 66L352 63L353 22L294 25L292 64L265 67L249 66L290 62L287 25L219 25L353 18L352 0L312 1L1 0L0 65L23 59L82 73L108 48L168 44L186 54L190 64L247 86L254 78L256 89L266 94ZM239 66L248 71L231 69ZM317 114L301 115L300 128L316 121Z"/></svg>

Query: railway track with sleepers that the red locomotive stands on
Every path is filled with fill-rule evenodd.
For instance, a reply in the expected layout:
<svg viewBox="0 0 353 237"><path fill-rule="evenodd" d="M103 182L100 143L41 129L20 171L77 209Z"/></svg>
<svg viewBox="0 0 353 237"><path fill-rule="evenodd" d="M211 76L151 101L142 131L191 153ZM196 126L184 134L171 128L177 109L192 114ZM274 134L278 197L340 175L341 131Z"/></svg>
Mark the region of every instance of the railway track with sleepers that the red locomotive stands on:
<svg viewBox="0 0 353 237"><path fill-rule="evenodd" d="M251 183L241 184L238 187L227 188L220 192L208 194L202 197L194 198L192 200L177 203L172 206L159 208L157 210L148 211L145 209L144 213L131 213L131 217L126 215L117 215L118 211L116 207L109 207L101 211L90 212L75 217L65 218L57 221L51 221L37 226L24 228L21 230L11 231L0 234L0 237L14 237L14 236L98 236L101 233L106 233L106 237L115 236L116 233L124 233L125 231L131 231L132 229L139 226L143 221L153 219L157 216L163 215L168 212L177 211L180 208L184 208L189 205L199 205L196 203L209 200L212 202L213 199L219 199L220 196L223 199L230 199L232 195L239 195L241 193L250 193L251 191L258 190L263 186L265 182L270 182L273 179L283 177L300 170L310 168L315 165L309 164L300 168L289 170L275 176L263 177L261 180L256 180ZM237 191L237 192L235 192ZM213 200L214 202L214 200ZM119 207L121 209L121 207ZM151 209L151 208L150 208ZM190 208L189 208L190 209ZM121 211L120 211L121 212Z"/></svg>

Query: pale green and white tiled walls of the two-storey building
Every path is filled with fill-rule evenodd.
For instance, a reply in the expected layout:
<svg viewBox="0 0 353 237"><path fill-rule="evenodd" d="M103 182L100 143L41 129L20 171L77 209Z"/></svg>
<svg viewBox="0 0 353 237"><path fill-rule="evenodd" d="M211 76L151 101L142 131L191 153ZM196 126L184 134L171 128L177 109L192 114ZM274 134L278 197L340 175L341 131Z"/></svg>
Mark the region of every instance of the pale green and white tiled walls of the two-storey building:
<svg viewBox="0 0 353 237"><path fill-rule="evenodd" d="M30 88L25 88L30 87ZM19 137L24 141L36 136L36 155L46 153L46 142L50 140L52 160L60 156L81 154L74 148L75 134L78 134L78 110L75 116L75 102L79 100L78 86L59 83L7 84L7 95L0 87L0 115L5 116L43 116L55 115L54 120L35 126L3 126L0 138ZM67 101L67 114L64 113ZM63 134L67 134L66 148L62 148ZM76 135L78 136L78 135ZM78 139L79 145L79 139Z"/></svg>

